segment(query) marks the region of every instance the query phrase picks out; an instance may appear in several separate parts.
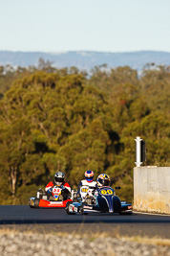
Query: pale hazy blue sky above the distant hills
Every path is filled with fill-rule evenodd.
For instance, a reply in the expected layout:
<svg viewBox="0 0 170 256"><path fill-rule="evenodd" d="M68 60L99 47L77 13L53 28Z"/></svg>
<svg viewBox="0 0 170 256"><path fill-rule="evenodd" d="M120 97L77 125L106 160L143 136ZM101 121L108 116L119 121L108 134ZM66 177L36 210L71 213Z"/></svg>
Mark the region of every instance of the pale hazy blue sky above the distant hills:
<svg viewBox="0 0 170 256"><path fill-rule="evenodd" d="M170 52L170 0L0 0L0 50Z"/></svg>

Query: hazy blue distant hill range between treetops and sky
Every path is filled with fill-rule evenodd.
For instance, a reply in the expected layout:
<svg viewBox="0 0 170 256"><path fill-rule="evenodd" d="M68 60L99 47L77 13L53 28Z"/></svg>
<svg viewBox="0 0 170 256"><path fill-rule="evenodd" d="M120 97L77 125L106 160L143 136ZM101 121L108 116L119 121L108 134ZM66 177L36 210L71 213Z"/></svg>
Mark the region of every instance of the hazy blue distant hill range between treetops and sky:
<svg viewBox="0 0 170 256"><path fill-rule="evenodd" d="M170 65L170 53L157 51L140 51L128 53L104 52L66 52L66 53L41 53L41 52L11 52L0 51L0 65L27 67L36 65L38 59L53 61L54 67L71 67L90 70L95 66L107 64L108 67L128 65L138 71L146 63L154 62L156 65Z"/></svg>

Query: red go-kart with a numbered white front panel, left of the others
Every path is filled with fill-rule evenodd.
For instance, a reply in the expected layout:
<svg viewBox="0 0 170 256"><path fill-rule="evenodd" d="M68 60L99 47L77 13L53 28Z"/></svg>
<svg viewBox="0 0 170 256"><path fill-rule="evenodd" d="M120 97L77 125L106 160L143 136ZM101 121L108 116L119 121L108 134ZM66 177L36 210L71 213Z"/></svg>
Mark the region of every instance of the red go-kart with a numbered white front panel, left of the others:
<svg viewBox="0 0 170 256"><path fill-rule="evenodd" d="M35 198L30 198L29 205L31 208L48 207L48 208L65 208L67 202L72 201L70 196L63 197L63 190L59 187L53 187L51 192L45 192L41 189L37 191Z"/></svg>

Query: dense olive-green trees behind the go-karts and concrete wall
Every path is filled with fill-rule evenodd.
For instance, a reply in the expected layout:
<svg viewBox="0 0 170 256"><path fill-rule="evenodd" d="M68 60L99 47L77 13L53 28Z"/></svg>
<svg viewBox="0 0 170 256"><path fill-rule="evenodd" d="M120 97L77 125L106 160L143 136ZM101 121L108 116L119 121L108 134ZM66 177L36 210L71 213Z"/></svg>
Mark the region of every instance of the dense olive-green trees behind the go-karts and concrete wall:
<svg viewBox="0 0 170 256"><path fill-rule="evenodd" d="M88 169L111 176L117 196L133 198L135 138L148 165L168 166L167 67L0 67L0 204L28 203L57 171L76 187Z"/></svg>

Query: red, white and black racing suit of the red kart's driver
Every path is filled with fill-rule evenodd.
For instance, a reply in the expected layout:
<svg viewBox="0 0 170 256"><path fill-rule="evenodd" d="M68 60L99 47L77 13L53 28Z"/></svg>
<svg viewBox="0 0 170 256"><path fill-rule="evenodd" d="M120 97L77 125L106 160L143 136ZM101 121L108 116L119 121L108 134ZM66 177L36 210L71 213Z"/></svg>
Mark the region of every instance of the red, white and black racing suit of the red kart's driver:
<svg viewBox="0 0 170 256"><path fill-rule="evenodd" d="M45 191L47 192L48 198L53 198L53 187L55 187L55 185L53 184L53 182L49 182L46 187L45 187ZM71 194L71 187L69 185L69 183L63 183L60 186L56 186L56 188L60 188L61 189L61 195L63 200L66 200L68 198L68 196Z"/></svg>

